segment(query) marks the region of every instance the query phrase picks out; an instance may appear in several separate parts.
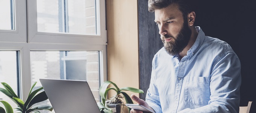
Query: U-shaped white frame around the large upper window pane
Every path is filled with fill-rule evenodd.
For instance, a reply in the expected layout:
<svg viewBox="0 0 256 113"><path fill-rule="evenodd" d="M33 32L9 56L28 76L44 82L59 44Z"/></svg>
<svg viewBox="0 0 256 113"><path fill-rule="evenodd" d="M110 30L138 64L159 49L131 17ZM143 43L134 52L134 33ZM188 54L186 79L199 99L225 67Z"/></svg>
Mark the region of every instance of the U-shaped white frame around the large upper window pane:
<svg viewBox="0 0 256 113"><path fill-rule="evenodd" d="M29 43L58 44L106 44L105 0L96 0L97 35L74 35L71 33L46 33L37 31L36 0L28 0L28 41ZM75 38L75 40L74 40Z"/></svg>

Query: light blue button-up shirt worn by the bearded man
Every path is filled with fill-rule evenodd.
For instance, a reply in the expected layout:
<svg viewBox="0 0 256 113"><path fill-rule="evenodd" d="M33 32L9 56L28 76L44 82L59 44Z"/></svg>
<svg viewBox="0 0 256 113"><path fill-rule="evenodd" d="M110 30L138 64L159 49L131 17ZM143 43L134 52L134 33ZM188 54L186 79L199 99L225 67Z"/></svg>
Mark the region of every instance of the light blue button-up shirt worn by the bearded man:
<svg viewBox="0 0 256 113"><path fill-rule="evenodd" d="M238 113L241 64L229 44L198 36L179 59L164 47L152 62L146 102L156 113Z"/></svg>

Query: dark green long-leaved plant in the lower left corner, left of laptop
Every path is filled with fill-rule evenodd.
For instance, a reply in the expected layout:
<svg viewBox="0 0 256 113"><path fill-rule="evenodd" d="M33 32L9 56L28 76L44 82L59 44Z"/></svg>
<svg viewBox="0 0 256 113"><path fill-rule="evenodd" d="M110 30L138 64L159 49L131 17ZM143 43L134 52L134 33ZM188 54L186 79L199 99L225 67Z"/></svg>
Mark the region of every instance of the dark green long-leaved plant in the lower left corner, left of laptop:
<svg viewBox="0 0 256 113"><path fill-rule="evenodd" d="M49 110L52 111L53 107L50 105L36 105L32 108L30 108L32 105L38 103L38 102L42 102L48 99L46 93L44 91L38 93L40 90L43 89L43 87L40 87L39 89L36 89L32 92L33 87L35 87L37 82L35 82L33 84L33 86L30 89L29 95L27 97L27 100L25 102L23 102L23 100L21 100L16 94L15 92L12 90L12 88L7 84L7 83L2 83L3 86L5 87L5 89L0 88L0 91L2 93L4 93L6 96L8 96L9 98L12 99L12 101L14 101L18 107L15 107L14 109L16 109L16 113L30 113L32 111L35 111L35 113L40 113L38 110ZM37 94L38 93L38 94ZM37 94L37 95L36 95ZM7 103L5 101L1 101L2 103ZM7 103L8 104L8 103ZM5 105L6 111L7 113L13 113L13 110L10 111L11 105ZM0 110L3 110L3 108L0 108ZM5 113L5 112L0 112L0 113Z"/></svg>

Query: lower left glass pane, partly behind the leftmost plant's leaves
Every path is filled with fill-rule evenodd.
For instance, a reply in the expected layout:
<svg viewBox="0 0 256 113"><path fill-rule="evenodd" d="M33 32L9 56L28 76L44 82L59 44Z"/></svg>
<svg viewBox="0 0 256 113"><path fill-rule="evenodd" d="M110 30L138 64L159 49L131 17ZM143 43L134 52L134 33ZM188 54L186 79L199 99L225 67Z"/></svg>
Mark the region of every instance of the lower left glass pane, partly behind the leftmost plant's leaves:
<svg viewBox="0 0 256 113"><path fill-rule="evenodd" d="M16 51L0 51L0 82L5 82L12 87L14 92L18 92L17 84L17 52ZM0 87L5 89L2 84ZM19 95L18 95L19 96ZM6 101L12 107L17 106L8 96L0 92L0 101ZM3 104L0 103L3 107ZM3 107L5 108L5 107Z"/></svg>

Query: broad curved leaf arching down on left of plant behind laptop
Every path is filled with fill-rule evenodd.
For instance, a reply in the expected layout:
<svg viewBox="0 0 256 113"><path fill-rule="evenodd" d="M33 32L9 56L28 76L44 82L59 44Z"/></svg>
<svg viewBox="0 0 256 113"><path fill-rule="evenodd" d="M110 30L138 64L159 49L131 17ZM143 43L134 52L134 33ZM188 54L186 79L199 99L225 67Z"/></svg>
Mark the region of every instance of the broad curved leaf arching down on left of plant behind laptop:
<svg viewBox="0 0 256 113"><path fill-rule="evenodd" d="M109 84L113 84L115 86L115 90L117 92L119 92L119 88L117 87L117 85L115 83L113 83L112 81L104 81L101 85L100 85L100 96L102 99L103 104L105 105L105 101L106 101L106 93L108 93L108 91L106 90L108 88Z"/></svg>

